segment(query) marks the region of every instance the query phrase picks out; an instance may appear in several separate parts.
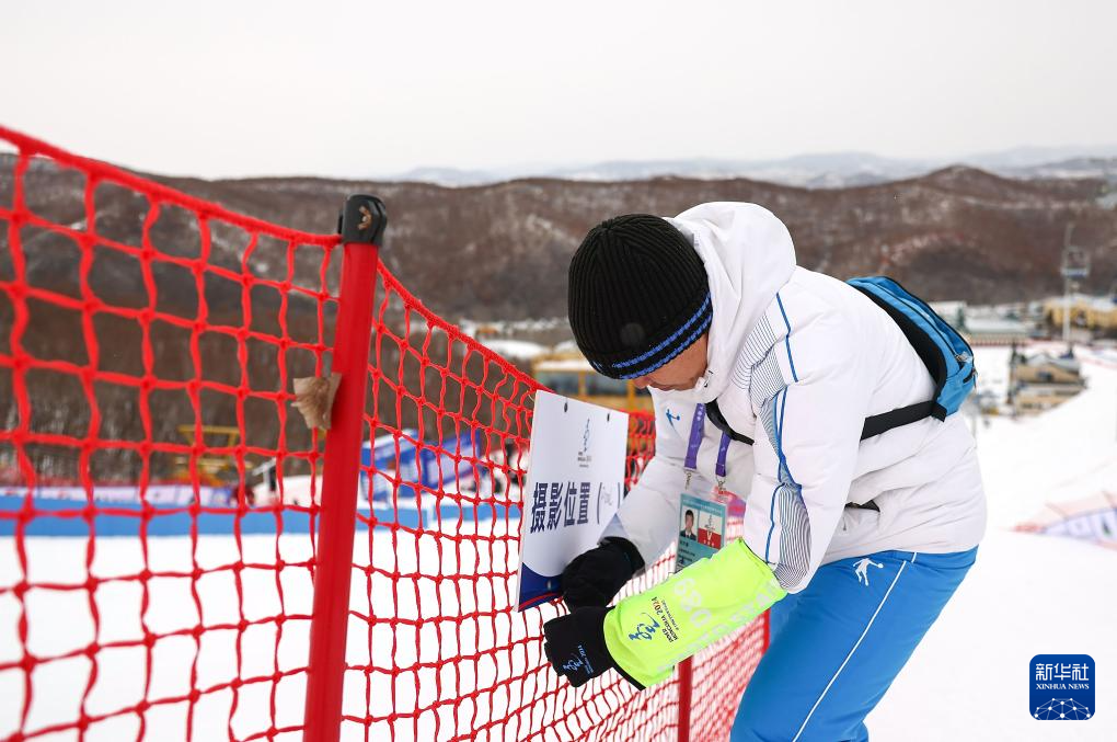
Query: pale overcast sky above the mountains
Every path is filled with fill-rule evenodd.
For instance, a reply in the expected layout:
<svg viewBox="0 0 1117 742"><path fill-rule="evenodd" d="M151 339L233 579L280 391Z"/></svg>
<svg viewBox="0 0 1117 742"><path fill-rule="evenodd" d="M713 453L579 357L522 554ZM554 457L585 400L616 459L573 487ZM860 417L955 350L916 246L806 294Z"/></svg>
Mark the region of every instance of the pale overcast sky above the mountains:
<svg viewBox="0 0 1117 742"><path fill-rule="evenodd" d="M128 167L1117 144L1117 2L9 2L0 124Z"/></svg>

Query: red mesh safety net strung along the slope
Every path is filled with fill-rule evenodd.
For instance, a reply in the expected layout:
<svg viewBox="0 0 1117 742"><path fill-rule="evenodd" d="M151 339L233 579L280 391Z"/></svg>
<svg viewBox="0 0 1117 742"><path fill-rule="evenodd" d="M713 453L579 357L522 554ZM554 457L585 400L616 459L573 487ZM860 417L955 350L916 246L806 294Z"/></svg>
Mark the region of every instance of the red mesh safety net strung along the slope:
<svg viewBox="0 0 1117 742"><path fill-rule="evenodd" d="M326 436L290 390L347 341L338 238L0 142L0 738L298 739L331 544ZM514 608L540 386L369 278L342 738L724 738L764 622L693 689L561 681L541 627L563 609ZM630 484L653 435L631 420Z"/></svg>

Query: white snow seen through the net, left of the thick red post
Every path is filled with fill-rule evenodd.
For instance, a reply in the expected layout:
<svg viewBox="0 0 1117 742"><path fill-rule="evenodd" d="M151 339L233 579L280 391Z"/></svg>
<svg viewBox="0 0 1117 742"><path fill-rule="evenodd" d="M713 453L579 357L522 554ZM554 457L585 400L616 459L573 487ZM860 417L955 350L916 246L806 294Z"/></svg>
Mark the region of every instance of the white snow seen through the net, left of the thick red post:
<svg viewBox="0 0 1117 742"><path fill-rule="evenodd" d="M147 581L149 605L141 582L122 579L134 575L146 564L154 573L185 573L194 568L189 538L152 538L146 554L139 539L98 539L87 568L84 538L31 538L26 540L27 580L31 584L59 588L85 582L87 575L102 580L92 593L98 620L90 610L90 593L84 589L32 588L25 596L27 606L27 649L37 657L55 657L87 647L97 640L104 645L139 643L145 631L165 635L198 625L232 625L241 619L256 621L287 613L306 613L311 606L309 571L286 568L276 579L273 570L246 569L240 573L244 594L238 605L238 586L229 565L244 561L274 564L277 554L292 562L309 555L307 536L245 536L238 551L231 536L200 536L195 552L197 565L206 570L193 584L198 599L191 594L191 580L184 577L159 577ZM0 584L13 584L20 578L13 539L0 539ZM279 590L283 590L280 605ZM16 638L19 605L9 594L0 600L0 663L19 659L20 644ZM182 696L190 692L191 667L197 656L194 685L206 688L228 683L238 676L237 632L231 629L206 631L195 645L190 636L172 636L155 641L151 656L151 685L146 697L155 701ZM306 621L288 621L283 637L275 624L249 627L240 643L242 663L239 675L254 677L278 669L305 667L308 640ZM149 667L142 644L106 647L97 655L96 679L89 692L85 712L108 714L135 705L144 696ZM46 662L32 673L32 703L26 731L78 717L82 696L90 678L92 664L85 656ZM7 739L19 725L23 704L22 673L0 673L0 739ZM302 717L305 676L292 676L276 688L277 726L298 723ZM266 683L246 685L238 693L232 729L238 736L267 729L270 687ZM194 713L197 740L227 739L232 692L206 694ZM187 704L155 705L147 712L147 739L182 739ZM140 717L126 714L93 724L86 739L136 739ZM52 734L45 740L75 740L73 732Z"/></svg>

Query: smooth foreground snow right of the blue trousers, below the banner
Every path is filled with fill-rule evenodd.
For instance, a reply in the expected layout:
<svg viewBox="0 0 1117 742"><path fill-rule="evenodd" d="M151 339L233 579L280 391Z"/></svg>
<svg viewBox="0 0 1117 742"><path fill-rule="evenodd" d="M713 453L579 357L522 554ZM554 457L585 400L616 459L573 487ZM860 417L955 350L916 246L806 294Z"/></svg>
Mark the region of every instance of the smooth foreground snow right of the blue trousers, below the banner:
<svg viewBox="0 0 1117 742"><path fill-rule="evenodd" d="M1097 715L1030 715L1029 660L1087 654ZM880 742L1117 740L1117 554L1071 539L991 532L977 563L868 719Z"/></svg>

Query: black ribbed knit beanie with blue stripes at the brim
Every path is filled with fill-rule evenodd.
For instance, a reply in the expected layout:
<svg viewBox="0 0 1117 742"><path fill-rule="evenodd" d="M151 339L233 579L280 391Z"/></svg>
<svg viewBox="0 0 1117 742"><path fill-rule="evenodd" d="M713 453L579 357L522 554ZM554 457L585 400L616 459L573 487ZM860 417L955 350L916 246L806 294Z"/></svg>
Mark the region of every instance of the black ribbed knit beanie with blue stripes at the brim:
<svg viewBox="0 0 1117 742"><path fill-rule="evenodd" d="M567 298L579 349L613 379L655 371L713 317L701 258L678 229L646 213L590 230L570 261Z"/></svg>

